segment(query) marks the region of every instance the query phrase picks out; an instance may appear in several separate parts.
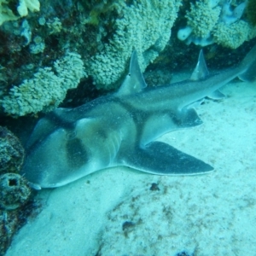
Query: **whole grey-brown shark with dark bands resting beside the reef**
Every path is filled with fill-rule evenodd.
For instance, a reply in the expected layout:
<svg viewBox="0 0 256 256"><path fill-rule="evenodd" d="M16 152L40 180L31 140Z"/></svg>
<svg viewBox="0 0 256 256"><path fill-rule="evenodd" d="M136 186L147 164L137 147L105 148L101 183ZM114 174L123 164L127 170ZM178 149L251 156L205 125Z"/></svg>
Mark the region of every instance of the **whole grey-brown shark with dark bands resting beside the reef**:
<svg viewBox="0 0 256 256"><path fill-rule="evenodd" d="M201 52L189 80L146 88L134 51L130 72L117 93L79 108L56 108L38 121L22 172L36 189L65 185L112 166L158 175L211 172L207 163L154 140L201 125L195 102L222 97L218 89L236 77L256 79L255 70L256 46L239 66L213 75Z"/></svg>

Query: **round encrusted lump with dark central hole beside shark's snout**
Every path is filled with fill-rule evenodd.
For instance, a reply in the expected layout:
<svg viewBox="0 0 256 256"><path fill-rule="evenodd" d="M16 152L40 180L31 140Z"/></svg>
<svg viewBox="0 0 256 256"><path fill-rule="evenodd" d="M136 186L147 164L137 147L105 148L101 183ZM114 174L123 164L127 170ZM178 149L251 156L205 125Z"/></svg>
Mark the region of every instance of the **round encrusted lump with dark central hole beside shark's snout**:
<svg viewBox="0 0 256 256"><path fill-rule="evenodd" d="M17 173L1 175L0 187L0 207L4 210L14 210L23 206L31 195L26 179Z"/></svg>

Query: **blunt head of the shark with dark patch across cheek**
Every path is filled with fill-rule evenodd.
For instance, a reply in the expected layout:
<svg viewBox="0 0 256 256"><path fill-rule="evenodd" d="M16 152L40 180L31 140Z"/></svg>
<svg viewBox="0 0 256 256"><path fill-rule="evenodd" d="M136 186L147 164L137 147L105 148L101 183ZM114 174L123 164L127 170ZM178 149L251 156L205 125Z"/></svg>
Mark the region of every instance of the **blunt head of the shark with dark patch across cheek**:
<svg viewBox="0 0 256 256"><path fill-rule="evenodd" d="M111 149L96 119L79 119L42 134L49 119L41 119L29 141L22 172L34 188L54 188L108 165Z"/></svg>

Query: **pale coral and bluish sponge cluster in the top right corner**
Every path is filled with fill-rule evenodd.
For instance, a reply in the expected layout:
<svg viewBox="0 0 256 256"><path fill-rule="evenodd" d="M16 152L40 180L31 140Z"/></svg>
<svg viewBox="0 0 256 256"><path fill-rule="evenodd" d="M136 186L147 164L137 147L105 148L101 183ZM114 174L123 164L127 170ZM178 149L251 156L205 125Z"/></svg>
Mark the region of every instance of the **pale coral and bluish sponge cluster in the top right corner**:
<svg viewBox="0 0 256 256"><path fill-rule="evenodd" d="M236 49L256 36L246 20L241 20L247 2L236 7L230 1L201 0L191 3L187 26L179 29L177 38L196 45L221 44Z"/></svg>

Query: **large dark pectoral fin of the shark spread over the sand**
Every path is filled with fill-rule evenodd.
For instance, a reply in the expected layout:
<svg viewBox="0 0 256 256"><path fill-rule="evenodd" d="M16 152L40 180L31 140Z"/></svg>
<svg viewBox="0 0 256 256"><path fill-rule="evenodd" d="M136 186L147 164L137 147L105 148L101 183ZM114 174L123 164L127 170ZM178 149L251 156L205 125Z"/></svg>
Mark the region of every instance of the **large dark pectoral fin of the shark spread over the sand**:
<svg viewBox="0 0 256 256"><path fill-rule="evenodd" d="M127 155L125 166L157 175L195 175L213 170L202 160L160 142L137 148L133 154Z"/></svg>

